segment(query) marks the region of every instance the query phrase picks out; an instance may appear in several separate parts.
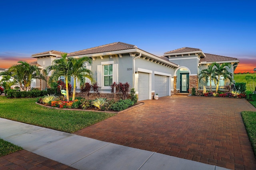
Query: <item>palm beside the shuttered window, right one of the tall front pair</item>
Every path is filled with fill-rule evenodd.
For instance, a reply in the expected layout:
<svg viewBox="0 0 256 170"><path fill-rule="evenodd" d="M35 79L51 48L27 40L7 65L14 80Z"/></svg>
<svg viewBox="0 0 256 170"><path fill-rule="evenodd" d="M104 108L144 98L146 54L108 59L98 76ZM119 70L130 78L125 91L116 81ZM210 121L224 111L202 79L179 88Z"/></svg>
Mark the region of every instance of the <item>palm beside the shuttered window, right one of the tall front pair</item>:
<svg viewBox="0 0 256 170"><path fill-rule="evenodd" d="M68 62L70 62L71 76L74 78L74 90L72 96L72 101L74 101L76 97L76 80L79 80L81 84L84 84L85 78L88 78L89 80L91 80L91 82L95 81L91 70L87 69L84 63L88 62L92 64L92 59L88 57L82 57L79 59L68 58Z"/></svg>

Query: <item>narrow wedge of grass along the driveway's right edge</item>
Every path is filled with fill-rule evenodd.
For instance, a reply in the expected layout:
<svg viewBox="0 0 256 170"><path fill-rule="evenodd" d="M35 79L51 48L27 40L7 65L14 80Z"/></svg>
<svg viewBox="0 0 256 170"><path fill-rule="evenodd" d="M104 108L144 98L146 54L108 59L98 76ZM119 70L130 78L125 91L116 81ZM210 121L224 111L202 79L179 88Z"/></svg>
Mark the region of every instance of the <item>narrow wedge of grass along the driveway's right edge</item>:
<svg viewBox="0 0 256 170"><path fill-rule="evenodd" d="M256 156L256 111L243 111L242 118Z"/></svg>

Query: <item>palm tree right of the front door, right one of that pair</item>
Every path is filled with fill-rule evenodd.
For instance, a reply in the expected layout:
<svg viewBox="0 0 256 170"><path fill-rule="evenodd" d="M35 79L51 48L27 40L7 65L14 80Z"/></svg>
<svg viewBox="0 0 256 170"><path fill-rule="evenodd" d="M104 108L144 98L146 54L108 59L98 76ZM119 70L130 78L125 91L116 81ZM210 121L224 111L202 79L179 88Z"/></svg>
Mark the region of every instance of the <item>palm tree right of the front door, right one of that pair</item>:
<svg viewBox="0 0 256 170"><path fill-rule="evenodd" d="M214 77L217 78L215 79L215 82L217 84L216 86L216 92L218 91L219 84L220 84L220 77L223 76L223 80L226 83L226 80L233 81L233 74L228 71L228 68L231 68L230 63L212 63L214 67Z"/></svg>

